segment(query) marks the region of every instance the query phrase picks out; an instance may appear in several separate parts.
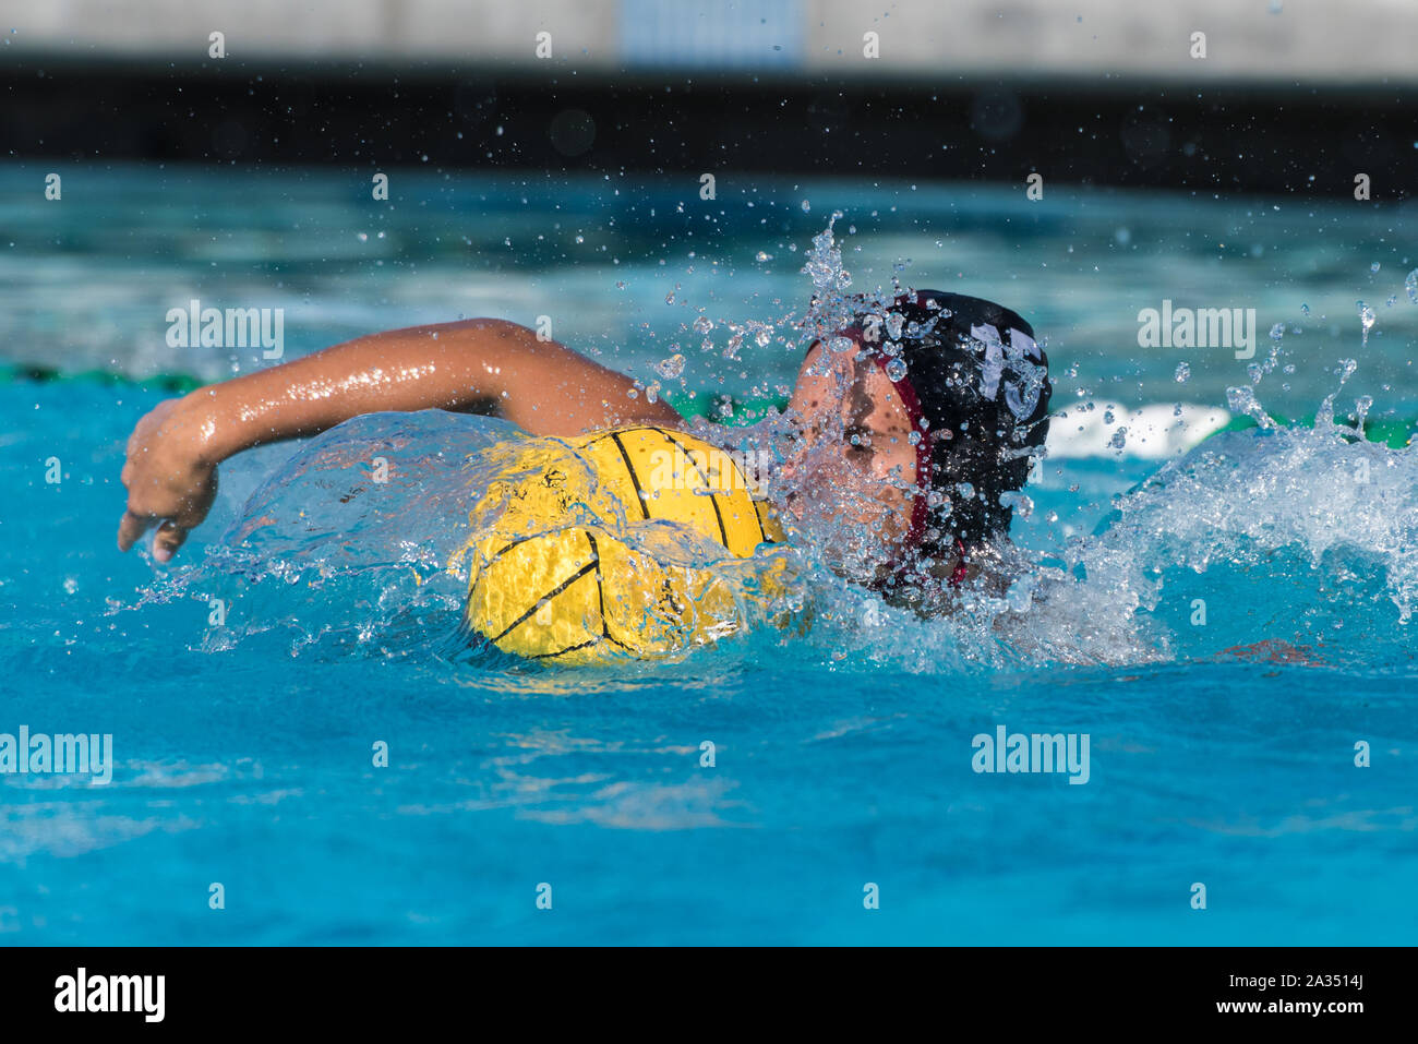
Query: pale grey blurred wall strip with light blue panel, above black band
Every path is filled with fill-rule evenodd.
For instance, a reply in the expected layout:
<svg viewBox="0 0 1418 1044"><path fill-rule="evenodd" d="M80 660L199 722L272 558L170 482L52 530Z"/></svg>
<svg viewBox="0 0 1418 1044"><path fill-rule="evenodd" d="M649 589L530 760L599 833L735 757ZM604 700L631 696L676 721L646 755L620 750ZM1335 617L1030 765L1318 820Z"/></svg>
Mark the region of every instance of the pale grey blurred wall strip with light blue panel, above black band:
<svg viewBox="0 0 1418 1044"><path fill-rule="evenodd" d="M1412 0L3 0L13 54L535 68L533 38L605 75L628 68L832 71L852 77L1116 74L1185 82L1414 82ZM862 34L881 35L881 60ZM1190 35L1208 37L1205 60ZM9 57L9 55L7 55Z"/></svg>

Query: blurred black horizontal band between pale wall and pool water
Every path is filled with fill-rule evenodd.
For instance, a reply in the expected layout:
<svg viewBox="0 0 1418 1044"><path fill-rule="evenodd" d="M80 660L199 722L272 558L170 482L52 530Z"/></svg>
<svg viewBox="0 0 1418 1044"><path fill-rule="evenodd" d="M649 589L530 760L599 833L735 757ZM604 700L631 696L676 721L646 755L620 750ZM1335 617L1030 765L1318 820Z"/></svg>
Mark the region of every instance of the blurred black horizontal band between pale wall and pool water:
<svg viewBox="0 0 1418 1044"><path fill-rule="evenodd" d="M1418 88L844 79L784 70L530 75L427 62L0 70L11 157L552 172L814 173L1418 193Z"/></svg>

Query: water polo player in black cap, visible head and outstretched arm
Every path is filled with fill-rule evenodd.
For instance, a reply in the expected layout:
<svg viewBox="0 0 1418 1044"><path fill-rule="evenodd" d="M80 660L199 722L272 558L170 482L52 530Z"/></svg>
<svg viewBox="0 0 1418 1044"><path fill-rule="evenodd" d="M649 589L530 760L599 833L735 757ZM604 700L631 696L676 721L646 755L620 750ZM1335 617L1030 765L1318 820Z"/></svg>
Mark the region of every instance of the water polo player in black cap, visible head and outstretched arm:
<svg viewBox="0 0 1418 1044"><path fill-rule="evenodd" d="M852 321L813 340L800 366L777 447L794 487L784 504L821 535L834 569L919 604L923 590L978 576L1007 533L1010 494L1048 430L1048 363L1029 323L980 298L920 291L852 306ZM153 557L169 562L210 511L217 467L242 450L364 413L427 409L502 417L533 435L688 428L631 377L512 322L387 331L197 389L139 420L118 546L156 526Z"/></svg>

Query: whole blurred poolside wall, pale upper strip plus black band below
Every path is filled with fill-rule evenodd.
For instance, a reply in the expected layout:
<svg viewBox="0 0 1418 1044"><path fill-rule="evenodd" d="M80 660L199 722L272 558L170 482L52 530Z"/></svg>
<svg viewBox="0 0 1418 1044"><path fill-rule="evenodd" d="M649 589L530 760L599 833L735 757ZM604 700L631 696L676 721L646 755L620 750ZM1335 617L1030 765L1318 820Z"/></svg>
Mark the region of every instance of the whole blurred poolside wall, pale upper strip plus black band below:
<svg viewBox="0 0 1418 1044"><path fill-rule="evenodd" d="M0 34L14 156L1418 187L1414 0L0 0Z"/></svg>

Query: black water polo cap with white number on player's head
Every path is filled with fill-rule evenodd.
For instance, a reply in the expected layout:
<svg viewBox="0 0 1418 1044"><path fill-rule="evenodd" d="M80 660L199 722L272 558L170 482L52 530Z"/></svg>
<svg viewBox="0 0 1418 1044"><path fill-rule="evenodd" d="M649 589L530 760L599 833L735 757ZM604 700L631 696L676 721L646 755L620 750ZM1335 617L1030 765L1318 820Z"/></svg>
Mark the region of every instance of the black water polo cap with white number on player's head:
<svg viewBox="0 0 1418 1044"><path fill-rule="evenodd" d="M859 311L844 333L871 350L922 433L917 484L939 495L916 498L910 545L964 556L1005 532L1014 511L1000 498L1024 488L1049 427L1034 328L991 301L926 289Z"/></svg>

